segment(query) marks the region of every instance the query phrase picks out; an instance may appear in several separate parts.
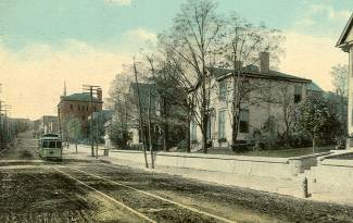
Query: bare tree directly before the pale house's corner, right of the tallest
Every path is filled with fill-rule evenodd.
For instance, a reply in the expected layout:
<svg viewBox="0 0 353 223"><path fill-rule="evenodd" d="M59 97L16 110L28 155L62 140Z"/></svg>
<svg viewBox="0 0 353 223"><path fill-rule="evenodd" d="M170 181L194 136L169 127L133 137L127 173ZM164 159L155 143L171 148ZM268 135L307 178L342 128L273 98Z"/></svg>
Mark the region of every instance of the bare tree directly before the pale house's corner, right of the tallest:
<svg viewBox="0 0 353 223"><path fill-rule="evenodd" d="M252 89L260 89L260 86L250 87L249 78L243 74L251 70L251 65L259 62L259 55L262 52L268 53L273 62L278 62L279 55L282 53L280 42L283 40L283 36L277 29L269 29L264 25L254 26L239 17L238 14L232 13L226 20L224 37L225 44L220 48L226 59L224 65L232 70L231 145L235 146L239 131L240 111L243 109L242 104L251 104L248 100L249 92Z"/></svg>

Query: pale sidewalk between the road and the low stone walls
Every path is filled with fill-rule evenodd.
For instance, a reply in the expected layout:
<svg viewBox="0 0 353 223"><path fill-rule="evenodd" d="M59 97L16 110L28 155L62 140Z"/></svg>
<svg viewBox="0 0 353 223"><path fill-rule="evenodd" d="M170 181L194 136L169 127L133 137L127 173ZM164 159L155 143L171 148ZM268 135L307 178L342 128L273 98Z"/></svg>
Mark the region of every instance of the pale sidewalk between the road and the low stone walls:
<svg viewBox="0 0 353 223"><path fill-rule="evenodd" d="M126 165L135 169L144 170L152 173L164 173L169 175L179 175L187 178L203 181L207 183L214 183L227 186L238 186L249 189L276 193L279 195L292 196L297 198L303 198L303 177L295 177L291 179L278 179L273 177L261 176L245 176L240 174L228 174L212 171L200 171L194 169L178 169L167 166L156 166L155 169L146 169L143 164L131 162L127 160L121 160L116 158L103 156L104 147L99 147L99 160L116 164ZM96 152L96 147L94 147ZM75 152L75 146L71 146L70 149L63 149L64 159L86 160L94 161L96 158L91 157L91 148L89 146L78 146L78 152ZM308 182L310 200L335 202L339 205L353 206L353 188L352 190L337 191L333 188L319 185L317 183Z"/></svg>

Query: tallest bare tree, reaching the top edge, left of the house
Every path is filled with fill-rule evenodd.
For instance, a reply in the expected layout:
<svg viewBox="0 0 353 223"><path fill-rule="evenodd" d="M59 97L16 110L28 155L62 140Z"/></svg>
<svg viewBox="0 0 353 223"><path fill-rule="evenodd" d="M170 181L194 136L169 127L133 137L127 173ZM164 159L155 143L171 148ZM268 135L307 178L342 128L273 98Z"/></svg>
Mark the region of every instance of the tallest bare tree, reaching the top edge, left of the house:
<svg viewBox="0 0 353 223"><path fill-rule="evenodd" d="M182 60L188 76L189 89L199 109L199 119L193 116L202 132L202 147L206 153L206 126L210 116L210 89L207 66L214 60L213 50L219 38L222 26L215 13L216 5L210 0L191 0L181 5L180 12L174 20L174 27L168 34L160 36L161 45Z"/></svg>

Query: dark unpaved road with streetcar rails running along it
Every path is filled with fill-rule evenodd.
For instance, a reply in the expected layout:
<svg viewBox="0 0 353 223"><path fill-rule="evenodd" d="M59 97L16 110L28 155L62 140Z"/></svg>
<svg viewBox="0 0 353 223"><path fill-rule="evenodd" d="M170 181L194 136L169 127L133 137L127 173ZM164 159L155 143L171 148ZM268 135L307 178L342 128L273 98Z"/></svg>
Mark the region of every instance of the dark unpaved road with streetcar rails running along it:
<svg viewBox="0 0 353 223"><path fill-rule="evenodd" d="M45 162L23 134L0 151L0 222L353 222L353 207L152 174Z"/></svg>

